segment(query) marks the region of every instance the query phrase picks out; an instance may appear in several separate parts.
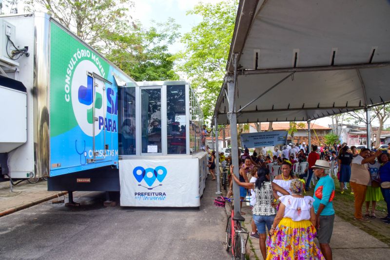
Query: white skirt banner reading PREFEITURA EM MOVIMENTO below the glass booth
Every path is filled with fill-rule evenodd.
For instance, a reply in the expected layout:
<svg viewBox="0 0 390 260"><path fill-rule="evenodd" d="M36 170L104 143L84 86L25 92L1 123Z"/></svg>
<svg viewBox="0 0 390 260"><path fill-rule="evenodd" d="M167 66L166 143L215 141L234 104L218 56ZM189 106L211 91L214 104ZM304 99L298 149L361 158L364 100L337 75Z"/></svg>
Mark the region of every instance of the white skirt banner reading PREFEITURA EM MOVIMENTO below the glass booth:
<svg viewBox="0 0 390 260"><path fill-rule="evenodd" d="M203 157L119 160L120 205L200 206L207 177Z"/></svg>

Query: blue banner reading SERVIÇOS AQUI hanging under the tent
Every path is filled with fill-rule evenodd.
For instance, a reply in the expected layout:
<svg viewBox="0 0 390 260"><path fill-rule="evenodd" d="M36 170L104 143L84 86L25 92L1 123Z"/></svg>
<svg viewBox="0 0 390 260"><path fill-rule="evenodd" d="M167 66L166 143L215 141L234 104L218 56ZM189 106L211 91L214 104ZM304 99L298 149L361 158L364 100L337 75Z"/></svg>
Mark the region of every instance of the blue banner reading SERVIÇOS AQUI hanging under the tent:
<svg viewBox="0 0 390 260"><path fill-rule="evenodd" d="M241 134L241 146L245 148L286 145L286 142L287 131L270 131Z"/></svg>

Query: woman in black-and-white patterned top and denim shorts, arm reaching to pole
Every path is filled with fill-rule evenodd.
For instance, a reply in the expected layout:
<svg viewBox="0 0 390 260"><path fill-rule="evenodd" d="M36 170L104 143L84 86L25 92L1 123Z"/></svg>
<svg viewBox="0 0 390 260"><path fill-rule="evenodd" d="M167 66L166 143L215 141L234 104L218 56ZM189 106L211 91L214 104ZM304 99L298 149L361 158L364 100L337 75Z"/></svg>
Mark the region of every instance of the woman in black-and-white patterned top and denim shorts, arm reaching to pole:
<svg viewBox="0 0 390 260"><path fill-rule="evenodd" d="M233 165L230 166L230 172L233 173ZM257 180L255 183L240 182L240 180L232 174L234 181L242 187L253 189L256 194L256 202L252 208L253 220L259 234L260 251L263 259L266 257L265 241L267 238L265 226L270 230L275 218L276 209L273 207L273 191L278 191L283 195L289 194L280 186L270 181L270 170L267 167L259 167L257 170Z"/></svg>

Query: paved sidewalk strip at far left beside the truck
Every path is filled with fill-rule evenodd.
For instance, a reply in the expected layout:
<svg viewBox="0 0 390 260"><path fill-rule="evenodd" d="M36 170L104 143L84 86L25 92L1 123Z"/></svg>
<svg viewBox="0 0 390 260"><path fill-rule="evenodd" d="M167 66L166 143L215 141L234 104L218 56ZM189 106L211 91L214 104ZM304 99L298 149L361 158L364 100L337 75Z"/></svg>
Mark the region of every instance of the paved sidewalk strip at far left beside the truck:
<svg viewBox="0 0 390 260"><path fill-rule="evenodd" d="M13 192L8 187L0 189L0 217L23 208L57 198L66 194L62 191L47 191L47 182L13 186Z"/></svg>

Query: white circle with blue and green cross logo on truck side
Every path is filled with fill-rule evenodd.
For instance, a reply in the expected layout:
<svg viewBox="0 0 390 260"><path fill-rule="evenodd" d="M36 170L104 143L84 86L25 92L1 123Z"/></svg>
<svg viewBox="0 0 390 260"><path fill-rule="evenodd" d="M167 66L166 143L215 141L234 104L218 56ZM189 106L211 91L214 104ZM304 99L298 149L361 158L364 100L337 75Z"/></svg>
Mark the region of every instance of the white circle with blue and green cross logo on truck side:
<svg viewBox="0 0 390 260"><path fill-rule="evenodd" d="M95 117L105 118L107 104L103 102L103 86L95 88L93 78L88 76L87 72L101 75L98 67L92 61L79 62L73 73L71 97L78 125L86 135L92 136L93 124L95 124L95 135L98 135L103 129L98 127L98 121L94 121L93 111L95 110ZM95 100L93 100L94 96Z"/></svg>

